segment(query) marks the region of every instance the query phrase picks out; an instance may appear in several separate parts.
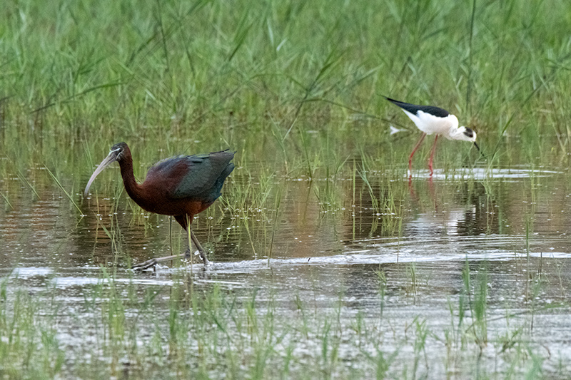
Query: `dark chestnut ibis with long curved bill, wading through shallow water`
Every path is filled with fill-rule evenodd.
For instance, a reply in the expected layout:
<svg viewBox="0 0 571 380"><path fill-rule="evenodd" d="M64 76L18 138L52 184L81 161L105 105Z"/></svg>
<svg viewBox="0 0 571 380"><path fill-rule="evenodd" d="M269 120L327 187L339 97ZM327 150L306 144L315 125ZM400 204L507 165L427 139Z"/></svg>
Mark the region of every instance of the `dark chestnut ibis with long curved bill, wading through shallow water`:
<svg viewBox="0 0 571 380"><path fill-rule="evenodd" d="M208 265L198 239L192 231L191 223L194 215L206 210L216 198L220 197L222 185L226 177L234 170L230 161L235 152L204 153L198 155L179 155L166 158L153 165L147 172L145 182L136 183L133 175L133 158L126 143L118 143L111 147L111 152L103 160L89 178L84 195L87 196L91 183L103 169L117 161L121 168L123 185L132 200L143 210L161 215L172 215L184 230L190 230L191 240L200 252L204 265ZM158 262L172 260L176 257L190 257L191 241L182 255L159 257L133 265L133 269L146 269Z"/></svg>

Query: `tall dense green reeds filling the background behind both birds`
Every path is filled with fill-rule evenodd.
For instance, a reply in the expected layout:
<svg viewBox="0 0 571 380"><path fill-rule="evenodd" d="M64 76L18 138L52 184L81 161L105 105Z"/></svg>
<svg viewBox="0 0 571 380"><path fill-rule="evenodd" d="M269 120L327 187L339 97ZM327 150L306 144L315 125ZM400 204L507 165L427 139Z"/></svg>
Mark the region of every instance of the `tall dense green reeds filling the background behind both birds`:
<svg viewBox="0 0 571 380"><path fill-rule="evenodd" d="M342 162L355 143L387 146L387 120L414 129L385 94L457 113L492 160L506 163L503 133L536 151L554 131L545 124L567 151L567 131L549 123L568 116L566 2L474 4L10 1L4 147L82 168L81 151L91 165L118 140L144 163L161 150L232 146L251 162L277 149L274 168L315 175L331 147ZM69 151L49 154L62 143Z"/></svg>

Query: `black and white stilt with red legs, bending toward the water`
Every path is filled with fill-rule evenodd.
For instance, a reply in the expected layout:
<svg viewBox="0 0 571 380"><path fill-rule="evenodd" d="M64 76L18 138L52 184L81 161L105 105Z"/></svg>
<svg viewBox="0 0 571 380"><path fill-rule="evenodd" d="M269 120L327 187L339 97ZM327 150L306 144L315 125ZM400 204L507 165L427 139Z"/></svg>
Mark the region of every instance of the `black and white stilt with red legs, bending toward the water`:
<svg viewBox="0 0 571 380"><path fill-rule="evenodd" d="M470 143L474 143L478 151L480 150L480 147L477 146L476 143L476 133L470 128L459 127L458 118L456 118L455 115L448 113L448 111L435 106L415 106L414 104L395 101L394 99L387 98L386 96L385 98L400 108L403 108L404 113L406 113L410 120L413 120L418 129L423 132L423 135L420 136L420 140L418 140L418 143L416 143L415 148L413 148L413 151L410 153L408 158L409 175L413 168L413 155L415 155L416 150L420 146L420 143L423 142L426 135L436 135L434 138L433 149L430 153L430 159L428 160L430 176L433 175L433 159L438 135L443 135L445 138L448 138L448 140L470 141Z"/></svg>

